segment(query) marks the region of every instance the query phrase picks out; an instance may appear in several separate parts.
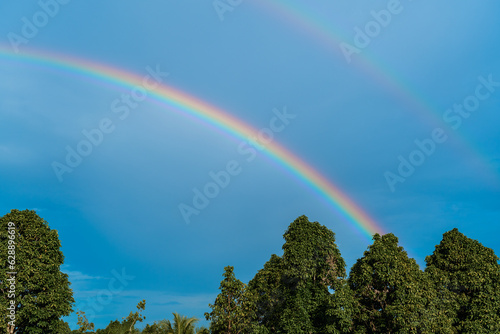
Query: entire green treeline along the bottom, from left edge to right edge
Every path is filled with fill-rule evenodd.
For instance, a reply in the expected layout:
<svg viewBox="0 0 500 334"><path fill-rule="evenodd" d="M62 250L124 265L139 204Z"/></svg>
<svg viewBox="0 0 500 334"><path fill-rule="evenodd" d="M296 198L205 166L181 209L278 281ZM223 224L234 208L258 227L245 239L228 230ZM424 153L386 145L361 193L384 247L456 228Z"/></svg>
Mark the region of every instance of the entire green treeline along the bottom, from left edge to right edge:
<svg viewBox="0 0 500 334"><path fill-rule="evenodd" d="M29 210L12 210L0 227L0 330L9 334L500 333L499 258L456 228L443 234L424 271L395 235L375 234L347 277L335 234L300 216L283 234L283 254L272 254L248 284L224 268L205 313L210 328L174 312L172 321L137 329L142 300L104 329L78 311L80 328L70 331L61 317L74 300L57 231Z"/></svg>

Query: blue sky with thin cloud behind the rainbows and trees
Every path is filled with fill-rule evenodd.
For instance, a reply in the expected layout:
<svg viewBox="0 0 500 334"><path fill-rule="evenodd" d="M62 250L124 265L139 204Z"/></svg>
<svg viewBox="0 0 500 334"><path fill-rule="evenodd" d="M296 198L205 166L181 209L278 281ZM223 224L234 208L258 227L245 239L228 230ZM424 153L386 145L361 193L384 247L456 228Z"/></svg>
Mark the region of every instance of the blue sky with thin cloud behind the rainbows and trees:
<svg viewBox="0 0 500 334"><path fill-rule="evenodd" d="M454 227L498 254L500 4L287 1L304 26L263 0L220 1L232 9L223 20L211 1L63 2L46 7L54 15L20 52L141 77L159 66L166 84L256 129L286 108L295 118L274 140L396 234L421 267ZM13 34L23 37L26 20L43 19L50 3L3 1L2 47L13 48ZM390 21L377 23L384 13ZM367 27L363 45L356 34ZM320 38L334 32L342 39ZM350 62L341 42L359 51ZM364 70L367 61L396 89ZM348 269L362 256L370 242L349 221L265 155L245 162L241 140L150 99L119 120L110 104L127 92L0 55L0 214L34 209L59 231L76 307L98 327L142 299L147 322L179 312L205 323L224 266L247 282L281 254L283 232L302 214L336 233ZM59 182L53 162L105 118L114 131ZM418 166L400 174L399 157ZM186 224L179 204L232 160L241 173ZM74 316L68 322L75 328Z"/></svg>

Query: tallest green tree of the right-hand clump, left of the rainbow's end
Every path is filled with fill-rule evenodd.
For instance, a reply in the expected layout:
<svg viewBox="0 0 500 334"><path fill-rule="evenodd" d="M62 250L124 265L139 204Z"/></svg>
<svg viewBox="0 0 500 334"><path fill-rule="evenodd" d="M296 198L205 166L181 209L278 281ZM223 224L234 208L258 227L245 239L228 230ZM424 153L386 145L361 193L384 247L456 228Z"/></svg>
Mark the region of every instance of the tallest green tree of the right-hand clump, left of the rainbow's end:
<svg viewBox="0 0 500 334"><path fill-rule="evenodd" d="M273 254L249 282L258 325L272 333L349 331L352 296L335 234L301 216L283 238L283 256Z"/></svg>

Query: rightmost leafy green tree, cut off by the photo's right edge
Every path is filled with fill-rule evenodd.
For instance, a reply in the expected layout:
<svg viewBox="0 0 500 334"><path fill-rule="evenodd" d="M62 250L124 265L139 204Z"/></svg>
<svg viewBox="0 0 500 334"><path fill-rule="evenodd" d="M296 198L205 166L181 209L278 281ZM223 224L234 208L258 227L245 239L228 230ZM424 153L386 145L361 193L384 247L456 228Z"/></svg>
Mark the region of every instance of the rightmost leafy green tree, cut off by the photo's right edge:
<svg viewBox="0 0 500 334"><path fill-rule="evenodd" d="M458 333L500 332L500 265L492 249L455 228L425 260Z"/></svg>

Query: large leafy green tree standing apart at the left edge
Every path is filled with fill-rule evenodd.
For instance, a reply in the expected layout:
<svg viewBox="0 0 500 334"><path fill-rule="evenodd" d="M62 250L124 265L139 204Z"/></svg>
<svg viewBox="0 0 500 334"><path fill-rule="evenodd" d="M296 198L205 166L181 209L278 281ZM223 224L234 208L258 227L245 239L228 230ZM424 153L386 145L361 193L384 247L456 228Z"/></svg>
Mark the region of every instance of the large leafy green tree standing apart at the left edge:
<svg viewBox="0 0 500 334"><path fill-rule="evenodd" d="M60 248L57 231L35 211L12 210L0 218L1 330L19 334L60 331L59 319L72 312L74 303L68 275L60 270L64 261ZM6 310L11 301L15 321L9 324Z"/></svg>

